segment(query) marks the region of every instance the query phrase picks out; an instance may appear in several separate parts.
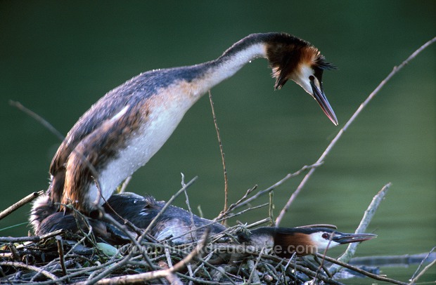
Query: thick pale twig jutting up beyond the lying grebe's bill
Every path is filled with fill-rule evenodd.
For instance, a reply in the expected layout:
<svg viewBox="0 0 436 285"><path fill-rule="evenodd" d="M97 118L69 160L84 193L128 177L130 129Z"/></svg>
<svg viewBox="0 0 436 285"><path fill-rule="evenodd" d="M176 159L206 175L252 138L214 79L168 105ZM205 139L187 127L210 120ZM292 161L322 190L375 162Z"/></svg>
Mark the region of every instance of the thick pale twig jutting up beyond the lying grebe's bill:
<svg viewBox="0 0 436 285"><path fill-rule="evenodd" d="M359 227L357 227L355 233L361 234L363 232L366 232L366 227L368 227L369 223L371 222L374 214L376 213L378 206L380 206L381 201L386 196L387 190L389 190L391 183L387 183L383 188L376 194L376 196L373 197L373 200L371 201L371 204L369 204L368 208L366 209L364 213L364 217L361 219ZM359 246L358 242L354 242L348 245L347 250L345 251L340 258L338 258L339 261L342 263L348 263L350 262L350 259L354 256L354 253L356 253L357 246ZM331 274L335 274L340 270L340 266L338 265L332 265L329 268Z"/></svg>

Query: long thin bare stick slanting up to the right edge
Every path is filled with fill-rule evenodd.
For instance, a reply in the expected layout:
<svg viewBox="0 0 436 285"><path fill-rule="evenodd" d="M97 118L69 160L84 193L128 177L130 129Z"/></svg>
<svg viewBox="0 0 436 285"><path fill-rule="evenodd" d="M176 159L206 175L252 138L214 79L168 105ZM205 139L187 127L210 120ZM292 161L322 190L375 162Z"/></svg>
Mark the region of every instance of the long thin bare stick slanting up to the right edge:
<svg viewBox="0 0 436 285"><path fill-rule="evenodd" d="M366 105L368 105L368 103L377 95L377 93L381 90L381 88L383 88L383 86L385 86L385 84L387 83L387 81L389 81L395 74L397 74L397 72L399 72L399 70L401 70L406 64L408 64L411 60L413 60L413 58L416 58L416 56L421 53L421 51L425 50L425 48L427 48L428 46L430 46L431 44L433 44L436 41L436 37L434 37L433 39L431 39L430 41L427 41L425 44L423 44L423 46L421 46L420 48L418 48L416 51L414 51L409 58L407 58L406 60L404 60L404 62L402 62L401 65L396 66L392 69L392 72L390 72L390 74L387 75L387 77L385 79L383 79L383 81L380 82L380 84L378 84L378 86L376 87L376 89L374 89L374 91L368 95L368 98L366 98L366 100L364 100L363 103L361 103L361 105L359 106L359 108L357 108L356 112L354 112L354 114L352 115L352 117L347 121L347 123L345 124L345 126L343 126L340 131L338 132L338 134L335 136L335 138L333 138L333 140L331 141L331 143L328 145L328 147L326 148L326 150L323 152L323 154L321 154L321 157L319 157L318 161L316 162L321 162L324 161L324 159L326 159L327 155L331 152L331 150L333 149L333 147L335 146L335 144L338 142L338 140L340 139L340 137L342 136L342 134L347 131L347 128L352 124L352 122L354 121L354 119L357 118L357 116L361 113L362 110L364 110L364 107L366 107ZM283 209L281 210L280 214L278 215L278 217L276 218L276 225L280 225L281 220L283 219L283 216L285 216L286 212L289 210L290 204L293 203L293 201L295 200L295 198L297 197L298 194L300 194L302 188L304 187L304 185L306 185L307 180L309 180L309 178L312 176L312 174L315 172L316 168L312 168L307 174L306 176L304 176L302 182L300 183L300 185L298 185L297 190L295 190L295 192L293 192L293 194L290 196L288 202L286 203L286 205L283 207Z"/></svg>

